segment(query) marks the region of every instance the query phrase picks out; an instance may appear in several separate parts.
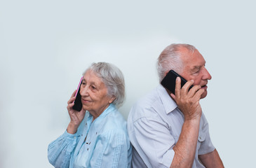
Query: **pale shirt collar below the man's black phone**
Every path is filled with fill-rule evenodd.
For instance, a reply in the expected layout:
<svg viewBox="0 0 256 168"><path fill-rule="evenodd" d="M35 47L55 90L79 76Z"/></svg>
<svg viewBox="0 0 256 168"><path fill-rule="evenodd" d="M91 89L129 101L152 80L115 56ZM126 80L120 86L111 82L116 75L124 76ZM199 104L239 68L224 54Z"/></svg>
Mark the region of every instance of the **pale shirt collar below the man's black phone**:
<svg viewBox="0 0 256 168"><path fill-rule="evenodd" d="M159 86L157 87L157 92L159 92L159 97L163 103L164 109L166 110L167 114L177 108L176 102L170 97L170 95L162 85L159 84Z"/></svg>

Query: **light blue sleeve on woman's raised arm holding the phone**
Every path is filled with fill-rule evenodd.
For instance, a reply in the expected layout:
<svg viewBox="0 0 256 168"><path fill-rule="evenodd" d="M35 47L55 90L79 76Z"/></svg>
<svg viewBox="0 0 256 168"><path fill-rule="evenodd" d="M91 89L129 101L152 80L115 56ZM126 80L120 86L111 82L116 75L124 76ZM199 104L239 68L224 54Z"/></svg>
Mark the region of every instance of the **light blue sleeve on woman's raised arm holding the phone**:
<svg viewBox="0 0 256 168"><path fill-rule="evenodd" d="M67 130L48 146L48 160L54 167L69 167L70 158L78 142L78 134Z"/></svg>

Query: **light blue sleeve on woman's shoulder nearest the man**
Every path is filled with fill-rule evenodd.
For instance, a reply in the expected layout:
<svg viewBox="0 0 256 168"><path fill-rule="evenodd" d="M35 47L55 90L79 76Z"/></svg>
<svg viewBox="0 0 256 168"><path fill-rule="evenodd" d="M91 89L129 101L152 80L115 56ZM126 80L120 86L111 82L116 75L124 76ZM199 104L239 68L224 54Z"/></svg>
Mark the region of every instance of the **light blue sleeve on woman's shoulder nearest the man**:
<svg viewBox="0 0 256 168"><path fill-rule="evenodd" d="M91 167L130 167L132 148L126 134L110 130L100 135L90 160Z"/></svg>

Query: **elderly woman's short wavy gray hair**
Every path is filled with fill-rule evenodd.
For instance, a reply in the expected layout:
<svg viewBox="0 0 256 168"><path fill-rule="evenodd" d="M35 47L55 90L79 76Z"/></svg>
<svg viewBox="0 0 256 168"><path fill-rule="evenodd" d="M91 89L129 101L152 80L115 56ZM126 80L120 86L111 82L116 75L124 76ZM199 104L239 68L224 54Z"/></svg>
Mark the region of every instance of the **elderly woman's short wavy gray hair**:
<svg viewBox="0 0 256 168"><path fill-rule="evenodd" d="M116 99L113 104L121 106L125 99L125 83L123 73L114 64L107 62L98 62L91 64L86 71L93 71L97 77L107 86L107 94L114 96ZM83 75L86 73L83 73Z"/></svg>

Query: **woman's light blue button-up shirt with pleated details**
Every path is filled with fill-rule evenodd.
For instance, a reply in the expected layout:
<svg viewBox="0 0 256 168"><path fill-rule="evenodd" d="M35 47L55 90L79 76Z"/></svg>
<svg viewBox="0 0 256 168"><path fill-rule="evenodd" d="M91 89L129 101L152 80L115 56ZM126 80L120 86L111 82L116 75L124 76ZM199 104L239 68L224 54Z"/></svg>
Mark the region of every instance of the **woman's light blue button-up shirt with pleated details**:
<svg viewBox="0 0 256 168"><path fill-rule="evenodd" d="M76 134L65 131L48 146L48 160L54 167L130 167L132 147L126 120L110 104L93 122L86 116ZM86 140L85 140L86 139Z"/></svg>

